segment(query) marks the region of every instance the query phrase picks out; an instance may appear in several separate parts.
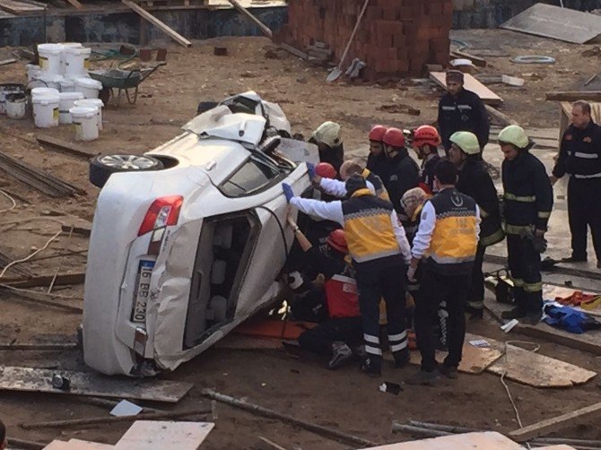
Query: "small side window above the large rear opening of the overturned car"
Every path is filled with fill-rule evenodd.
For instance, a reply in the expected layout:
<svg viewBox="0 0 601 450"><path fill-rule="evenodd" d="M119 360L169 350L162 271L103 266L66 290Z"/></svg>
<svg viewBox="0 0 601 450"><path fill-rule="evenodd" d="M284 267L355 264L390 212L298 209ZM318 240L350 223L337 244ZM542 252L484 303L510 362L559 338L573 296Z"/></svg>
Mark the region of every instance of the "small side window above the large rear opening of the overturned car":
<svg viewBox="0 0 601 450"><path fill-rule="evenodd" d="M222 193L230 197L249 195L261 187L269 185L274 178L280 175L282 172L279 170L250 157L220 187Z"/></svg>

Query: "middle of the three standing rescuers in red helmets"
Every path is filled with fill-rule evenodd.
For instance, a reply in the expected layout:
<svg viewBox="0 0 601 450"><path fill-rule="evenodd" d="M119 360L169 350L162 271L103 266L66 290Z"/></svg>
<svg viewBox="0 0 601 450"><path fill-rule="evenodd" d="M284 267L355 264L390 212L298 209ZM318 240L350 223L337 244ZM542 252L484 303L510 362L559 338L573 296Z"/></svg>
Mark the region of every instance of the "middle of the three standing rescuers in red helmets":
<svg viewBox="0 0 601 450"><path fill-rule="evenodd" d="M388 176L384 186L396 212L402 213L401 198L419 183L420 168L405 148L405 134L398 128L388 128L382 138L388 158Z"/></svg>

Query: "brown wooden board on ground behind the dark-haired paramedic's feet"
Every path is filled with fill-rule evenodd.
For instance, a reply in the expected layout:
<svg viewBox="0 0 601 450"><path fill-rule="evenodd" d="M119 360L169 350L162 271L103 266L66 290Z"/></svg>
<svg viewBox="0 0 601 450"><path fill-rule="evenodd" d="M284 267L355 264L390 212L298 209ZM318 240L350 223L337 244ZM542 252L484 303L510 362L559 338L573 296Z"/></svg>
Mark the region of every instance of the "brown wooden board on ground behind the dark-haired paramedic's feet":
<svg viewBox="0 0 601 450"><path fill-rule="evenodd" d="M478 339L485 339L491 344L491 347L478 348L469 343L469 341L475 341ZM463 355L458 370L459 372L463 372L465 374L481 374L494 361L500 359L504 352L505 350L503 349L502 342L475 334L466 333L466 342L463 344ZM442 363L446 356L446 351L436 351L436 360L439 363ZM422 357L420 356L420 352L412 351L409 362L415 365L421 364Z"/></svg>

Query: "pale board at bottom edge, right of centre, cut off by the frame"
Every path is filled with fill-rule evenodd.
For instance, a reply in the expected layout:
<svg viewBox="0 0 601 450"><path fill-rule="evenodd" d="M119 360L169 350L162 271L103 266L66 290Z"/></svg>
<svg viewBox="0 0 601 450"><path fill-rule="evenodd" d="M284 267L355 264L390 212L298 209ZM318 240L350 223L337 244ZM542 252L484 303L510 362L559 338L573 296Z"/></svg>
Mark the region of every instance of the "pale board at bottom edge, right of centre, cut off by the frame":
<svg viewBox="0 0 601 450"><path fill-rule="evenodd" d="M496 431L431 437L388 446L369 447L370 450L523 450L523 447ZM368 450L364 448L363 450Z"/></svg>

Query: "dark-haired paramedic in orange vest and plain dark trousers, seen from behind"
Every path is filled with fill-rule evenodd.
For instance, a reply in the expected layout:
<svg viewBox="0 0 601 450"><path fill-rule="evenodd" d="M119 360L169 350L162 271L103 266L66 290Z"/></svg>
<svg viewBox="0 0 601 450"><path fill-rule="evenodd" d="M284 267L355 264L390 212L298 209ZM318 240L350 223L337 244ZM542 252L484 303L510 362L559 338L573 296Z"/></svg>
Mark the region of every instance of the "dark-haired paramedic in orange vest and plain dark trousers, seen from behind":
<svg viewBox="0 0 601 450"><path fill-rule="evenodd" d="M433 385L439 372L457 378L466 336L464 307L472 284L472 270L480 231L480 213L474 199L455 188L457 168L449 160L436 166L438 194L425 203L411 250L407 279L414 281L422 258L422 281L415 306L415 333L422 354L422 368L406 380L411 385ZM449 312L449 355L439 367L432 316L441 302Z"/></svg>

